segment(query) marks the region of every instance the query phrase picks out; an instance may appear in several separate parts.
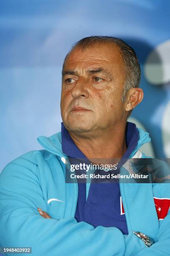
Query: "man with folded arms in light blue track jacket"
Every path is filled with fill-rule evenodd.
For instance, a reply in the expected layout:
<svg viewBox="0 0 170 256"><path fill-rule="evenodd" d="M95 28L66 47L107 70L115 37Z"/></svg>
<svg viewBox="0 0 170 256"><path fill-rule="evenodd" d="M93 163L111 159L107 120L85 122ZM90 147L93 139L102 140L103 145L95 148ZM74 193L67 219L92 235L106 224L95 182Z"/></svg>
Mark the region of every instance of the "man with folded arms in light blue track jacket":
<svg viewBox="0 0 170 256"><path fill-rule="evenodd" d="M20 156L0 175L1 247L52 256L168 255L170 214L158 220L154 200L170 198L169 184L65 182L71 159L146 157L139 148L148 133L127 123L143 99L139 82L138 59L124 41L92 36L75 44L62 70L62 132L40 136L45 150Z"/></svg>

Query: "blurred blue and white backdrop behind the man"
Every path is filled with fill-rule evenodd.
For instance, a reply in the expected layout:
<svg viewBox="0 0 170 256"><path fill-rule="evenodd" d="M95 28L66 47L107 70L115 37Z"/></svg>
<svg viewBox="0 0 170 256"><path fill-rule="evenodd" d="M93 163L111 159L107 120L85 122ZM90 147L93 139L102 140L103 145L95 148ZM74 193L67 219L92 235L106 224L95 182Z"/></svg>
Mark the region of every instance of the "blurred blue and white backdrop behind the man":
<svg viewBox="0 0 170 256"><path fill-rule="evenodd" d="M60 131L62 62L91 35L120 37L140 60L145 98L132 117L153 155L170 157L169 0L0 0L0 172Z"/></svg>

